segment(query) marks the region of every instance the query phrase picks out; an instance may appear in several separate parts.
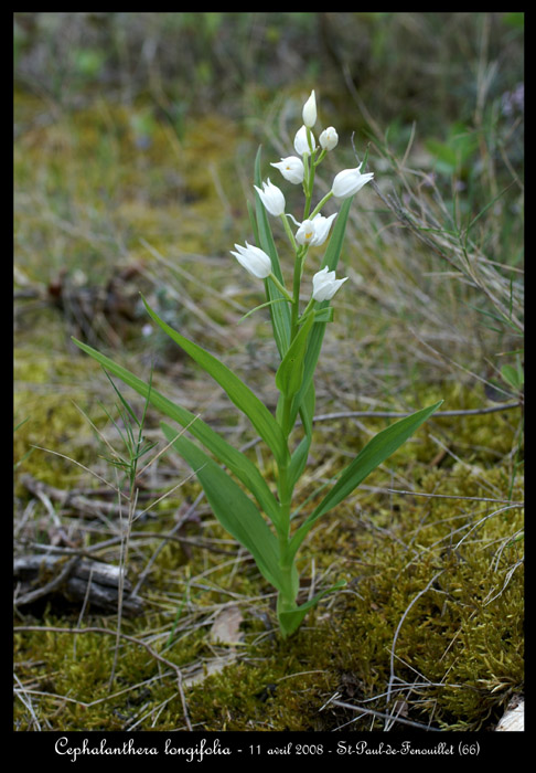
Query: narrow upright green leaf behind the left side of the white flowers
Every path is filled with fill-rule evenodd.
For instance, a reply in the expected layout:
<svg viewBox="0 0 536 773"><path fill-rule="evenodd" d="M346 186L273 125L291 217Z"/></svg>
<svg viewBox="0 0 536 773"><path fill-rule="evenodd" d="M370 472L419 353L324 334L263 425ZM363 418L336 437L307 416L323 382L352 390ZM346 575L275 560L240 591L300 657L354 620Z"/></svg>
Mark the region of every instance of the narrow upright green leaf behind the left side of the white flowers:
<svg viewBox="0 0 536 773"><path fill-rule="evenodd" d="M255 184L257 188L261 188L262 186L262 178L260 174L260 147L255 159ZM271 269L275 276L281 284L285 284L276 243L271 233L270 221L257 191L255 191L255 213L257 218L258 246L270 256ZM269 277L265 279L265 288L268 300L277 300L285 297ZM274 304L270 306L270 317L274 338L282 359L290 345L290 310L287 304Z"/></svg>

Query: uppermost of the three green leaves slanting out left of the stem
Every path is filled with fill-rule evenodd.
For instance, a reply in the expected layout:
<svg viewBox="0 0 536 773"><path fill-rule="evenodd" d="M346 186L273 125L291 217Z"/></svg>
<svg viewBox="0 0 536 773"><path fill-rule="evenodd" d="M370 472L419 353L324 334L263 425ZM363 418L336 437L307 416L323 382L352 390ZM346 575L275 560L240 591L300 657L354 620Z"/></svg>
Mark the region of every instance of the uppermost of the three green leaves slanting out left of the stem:
<svg viewBox="0 0 536 773"><path fill-rule="evenodd" d="M156 311L147 304L142 296L143 304L151 318L159 325L168 336L183 349L192 359L197 362L212 378L225 390L232 402L249 419L260 437L271 448L274 456L279 464L288 462L288 448L281 427L268 411L266 405L251 392L249 386L240 381L227 366L219 362L213 354L202 349L193 341L190 341L180 332L167 325ZM281 304L277 304L280 306Z"/></svg>

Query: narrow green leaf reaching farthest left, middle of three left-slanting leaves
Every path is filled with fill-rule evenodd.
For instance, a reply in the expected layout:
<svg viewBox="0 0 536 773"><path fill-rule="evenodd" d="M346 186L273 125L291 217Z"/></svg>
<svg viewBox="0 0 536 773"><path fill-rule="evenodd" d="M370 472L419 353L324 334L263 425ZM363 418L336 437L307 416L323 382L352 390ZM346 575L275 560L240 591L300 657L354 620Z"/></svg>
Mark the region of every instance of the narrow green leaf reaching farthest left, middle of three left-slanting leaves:
<svg viewBox="0 0 536 773"><path fill-rule="evenodd" d="M87 354L95 358L110 373L117 375L124 383L133 389L138 394L146 398L153 407L161 411L165 416L172 419L183 427L187 427L189 432L196 437L205 448L216 456L222 464L231 469L232 473L248 488L257 499L260 508L277 523L279 519L279 504L268 488L265 479L260 475L257 467L250 462L247 456L229 445L208 424L205 424L199 416L195 416L186 409L176 405L171 400L161 394L152 385L147 384L137 375L131 373L122 366L117 364L105 354L101 354L96 349L93 349L87 343L73 339L74 342L83 349Z"/></svg>

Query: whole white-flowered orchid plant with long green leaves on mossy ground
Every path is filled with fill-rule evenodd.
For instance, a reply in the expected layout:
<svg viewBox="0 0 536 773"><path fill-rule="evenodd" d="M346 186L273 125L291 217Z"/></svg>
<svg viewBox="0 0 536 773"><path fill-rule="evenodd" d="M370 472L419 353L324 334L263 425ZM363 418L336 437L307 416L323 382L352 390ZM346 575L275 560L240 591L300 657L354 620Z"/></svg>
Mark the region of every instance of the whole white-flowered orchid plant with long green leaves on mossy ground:
<svg viewBox="0 0 536 773"><path fill-rule="evenodd" d="M347 277L336 278L336 269L349 211L354 195L374 177L372 172L362 171L363 163L355 169L345 169L335 176L329 192L313 207L317 169L337 146L339 137L335 129L329 127L320 134L317 144L313 134L317 124L314 91L303 106L302 118L303 125L294 137L296 155L271 163L286 181L302 187L304 205L300 220L287 212L283 191L269 178L261 180L259 148L255 162L255 209L251 209L256 244L246 241L245 246L236 244L232 251L232 255L255 279L264 282L266 301L256 308L268 307L279 354L275 377L279 399L275 414L238 375L213 354L173 330L143 300L154 322L223 388L236 407L249 419L272 454L277 469L276 490L267 484L262 470L246 453L233 447L201 417L174 404L152 384L144 383L108 357L76 341L107 371L119 377L181 427L187 428L204 446L203 449L183 431L178 433L174 427L162 423L163 434L170 444L195 472L216 518L249 551L259 572L276 589L277 616L283 637L297 631L308 611L321 597L345 584L341 581L299 603L298 553L311 528L319 518L349 497L441 404L439 402L417 411L374 436L332 481L328 493L322 496L319 490L317 499L321 499L307 517L299 515L301 508L293 508L293 493L304 473L312 443L315 403L313 377L325 327L333 319L331 300L347 280ZM323 215L322 209L332 198L340 203L340 209ZM287 239L293 266L292 283L289 285L281 269L270 219L280 220ZM305 268L310 251L325 244L320 268L309 280ZM303 285L312 285L312 289L303 292ZM303 298L308 296L303 304Z"/></svg>

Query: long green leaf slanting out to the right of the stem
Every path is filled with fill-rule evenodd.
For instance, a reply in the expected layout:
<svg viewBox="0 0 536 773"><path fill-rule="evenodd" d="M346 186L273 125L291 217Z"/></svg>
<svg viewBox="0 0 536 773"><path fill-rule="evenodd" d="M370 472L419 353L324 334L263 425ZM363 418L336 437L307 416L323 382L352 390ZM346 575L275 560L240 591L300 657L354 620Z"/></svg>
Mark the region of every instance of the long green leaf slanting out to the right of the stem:
<svg viewBox="0 0 536 773"><path fill-rule="evenodd" d="M309 518L298 529L291 540L291 553L294 554L303 538L321 516L339 505L386 458L399 448L410 435L441 405L443 401L430 407L421 409L410 416L400 419L390 426L382 430L357 454L355 459L342 472L339 480Z"/></svg>

